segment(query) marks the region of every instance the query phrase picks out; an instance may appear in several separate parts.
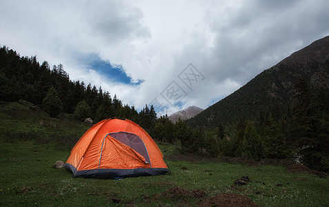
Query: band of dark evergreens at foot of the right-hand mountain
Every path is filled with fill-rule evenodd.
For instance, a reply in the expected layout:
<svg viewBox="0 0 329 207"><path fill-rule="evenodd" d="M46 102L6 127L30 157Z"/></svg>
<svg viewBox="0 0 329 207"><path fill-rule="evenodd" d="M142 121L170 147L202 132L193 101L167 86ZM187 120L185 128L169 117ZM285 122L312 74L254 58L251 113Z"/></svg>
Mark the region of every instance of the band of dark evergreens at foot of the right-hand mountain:
<svg viewBox="0 0 329 207"><path fill-rule="evenodd" d="M204 139L195 141L192 134L182 132L182 146L194 152L208 150L212 155L246 157L257 161L296 159L311 169L329 170L329 92L310 88L305 79L295 84L293 101L287 105L259 108L254 117L204 127ZM188 124L190 124L188 122ZM184 125L181 123L181 125ZM185 124L186 125L186 124ZM182 128L187 129L188 126ZM192 128L191 128L192 130ZM211 146L202 141L208 140Z"/></svg>

